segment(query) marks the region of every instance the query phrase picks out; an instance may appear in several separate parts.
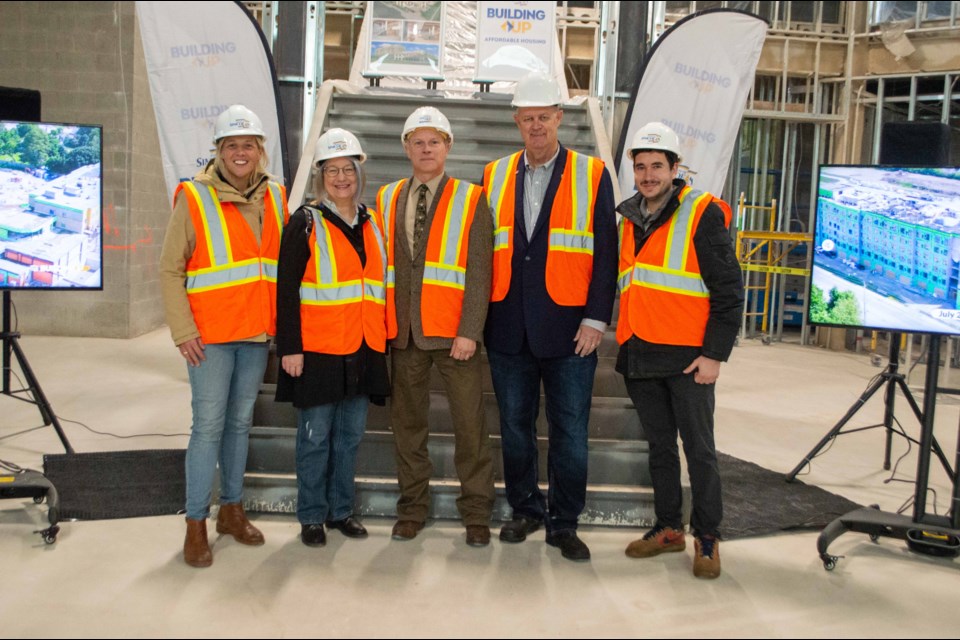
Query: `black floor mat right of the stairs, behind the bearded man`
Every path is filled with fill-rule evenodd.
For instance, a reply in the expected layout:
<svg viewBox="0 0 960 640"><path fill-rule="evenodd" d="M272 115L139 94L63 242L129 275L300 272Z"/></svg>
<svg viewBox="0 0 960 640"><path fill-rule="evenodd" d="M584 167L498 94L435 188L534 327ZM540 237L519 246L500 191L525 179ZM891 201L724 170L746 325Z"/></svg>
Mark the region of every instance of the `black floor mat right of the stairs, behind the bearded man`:
<svg viewBox="0 0 960 640"><path fill-rule="evenodd" d="M717 453L723 482L723 523L727 540L778 531L822 529L861 505L783 473Z"/></svg>

